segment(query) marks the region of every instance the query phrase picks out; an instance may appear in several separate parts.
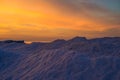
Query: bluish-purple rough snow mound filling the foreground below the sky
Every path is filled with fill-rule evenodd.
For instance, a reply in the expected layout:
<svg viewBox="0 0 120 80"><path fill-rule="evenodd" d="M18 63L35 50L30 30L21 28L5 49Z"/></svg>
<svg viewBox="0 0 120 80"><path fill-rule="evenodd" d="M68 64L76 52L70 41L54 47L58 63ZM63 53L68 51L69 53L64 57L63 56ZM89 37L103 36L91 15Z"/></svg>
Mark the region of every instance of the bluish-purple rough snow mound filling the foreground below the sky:
<svg viewBox="0 0 120 80"><path fill-rule="evenodd" d="M120 37L2 42L0 80L120 80Z"/></svg>

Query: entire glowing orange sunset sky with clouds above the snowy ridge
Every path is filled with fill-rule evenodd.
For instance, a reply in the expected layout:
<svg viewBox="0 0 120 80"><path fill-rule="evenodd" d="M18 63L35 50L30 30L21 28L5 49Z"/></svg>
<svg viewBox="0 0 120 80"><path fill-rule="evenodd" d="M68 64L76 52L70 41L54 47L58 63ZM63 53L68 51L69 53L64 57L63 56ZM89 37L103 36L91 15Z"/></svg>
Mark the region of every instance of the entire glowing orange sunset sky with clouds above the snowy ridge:
<svg viewBox="0 0 120 80"><path fill-rule="evenodd" d="M0 40L120 37L120 0L0 0Z"/></svg>

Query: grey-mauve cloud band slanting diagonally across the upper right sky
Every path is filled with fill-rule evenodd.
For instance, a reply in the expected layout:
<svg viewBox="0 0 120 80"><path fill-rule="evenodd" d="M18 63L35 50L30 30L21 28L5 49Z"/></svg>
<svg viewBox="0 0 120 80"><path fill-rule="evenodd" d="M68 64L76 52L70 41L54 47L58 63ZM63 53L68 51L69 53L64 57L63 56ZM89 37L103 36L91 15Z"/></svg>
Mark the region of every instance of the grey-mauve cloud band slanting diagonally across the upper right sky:
<svg viewBox="0 0 120 80"><path fill-rule="evenodd" d="M106 25L120 25L120 14L116 14L90 0L45 0L61 14L84 17ZM106 4L107 5L107 4Z"/></svg>

